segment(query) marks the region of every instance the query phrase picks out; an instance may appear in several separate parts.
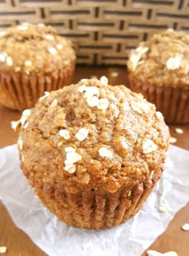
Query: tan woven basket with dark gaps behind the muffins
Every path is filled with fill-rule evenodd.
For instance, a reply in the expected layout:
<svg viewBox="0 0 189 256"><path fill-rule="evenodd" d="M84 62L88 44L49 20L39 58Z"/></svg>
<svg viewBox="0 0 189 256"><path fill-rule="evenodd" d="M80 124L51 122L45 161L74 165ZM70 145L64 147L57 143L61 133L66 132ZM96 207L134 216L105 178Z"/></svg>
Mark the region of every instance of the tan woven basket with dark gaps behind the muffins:
<svg viewBox="0 0 189 256"><path fill-rule="evenodd" d="M80 64L125 64L151 34L189 31L188 0L0 0L0 28L46 23L75 43Z"/></svg>

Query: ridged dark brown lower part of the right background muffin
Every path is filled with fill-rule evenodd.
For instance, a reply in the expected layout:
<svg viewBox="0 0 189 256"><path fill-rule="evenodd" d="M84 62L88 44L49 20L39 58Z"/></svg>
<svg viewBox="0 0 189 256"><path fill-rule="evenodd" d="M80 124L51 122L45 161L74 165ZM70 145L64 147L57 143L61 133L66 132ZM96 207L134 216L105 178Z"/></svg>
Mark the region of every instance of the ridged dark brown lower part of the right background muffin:
<svg viewBox="0 0 189 256"><path fill-rule="evenodd" d="M135 81L135 77L131 74L129 74L129 83L131 90L142 93L147 101L155 104L167 123L189 122L189 88L147 85Z"/></svg>

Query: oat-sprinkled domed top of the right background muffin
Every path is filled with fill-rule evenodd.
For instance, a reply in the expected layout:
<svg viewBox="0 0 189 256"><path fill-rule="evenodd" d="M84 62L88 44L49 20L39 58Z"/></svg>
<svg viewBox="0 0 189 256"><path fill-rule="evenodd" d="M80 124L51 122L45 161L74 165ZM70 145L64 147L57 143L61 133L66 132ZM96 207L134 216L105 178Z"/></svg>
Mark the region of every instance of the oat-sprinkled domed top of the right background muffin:
<svg viewBox="0 0 189 256"><path fill-rule="evenodd" d="M167 30L131 51L129 71L151 85L189 88L189 35Z"/></svg>

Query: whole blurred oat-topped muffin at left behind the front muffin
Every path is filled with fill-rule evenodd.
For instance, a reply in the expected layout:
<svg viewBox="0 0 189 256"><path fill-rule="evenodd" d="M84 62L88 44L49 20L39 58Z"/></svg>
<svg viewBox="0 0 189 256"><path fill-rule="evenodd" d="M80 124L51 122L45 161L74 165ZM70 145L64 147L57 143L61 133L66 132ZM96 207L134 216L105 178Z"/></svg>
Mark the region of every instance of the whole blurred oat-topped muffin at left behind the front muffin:
<svg viewBox="0 0 189 256"><path fill-rule="evenodd" d="M69 85L75 53L70 41L43 24L0 33L0 103L10 109L34 106L45 91Z"/></svg>

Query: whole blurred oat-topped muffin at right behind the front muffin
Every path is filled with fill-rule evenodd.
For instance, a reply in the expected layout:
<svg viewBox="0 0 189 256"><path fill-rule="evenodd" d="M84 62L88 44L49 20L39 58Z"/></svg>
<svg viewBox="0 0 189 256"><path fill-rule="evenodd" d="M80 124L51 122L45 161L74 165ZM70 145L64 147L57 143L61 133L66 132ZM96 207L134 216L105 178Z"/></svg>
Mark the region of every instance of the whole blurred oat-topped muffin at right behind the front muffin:
<svg viewBox="0 0 189 256"><path fill-rule="evenodd" d="M189 122L189 35L163 31L142 42L127 63L130 86L163 113L167 123Z"/></svg>

